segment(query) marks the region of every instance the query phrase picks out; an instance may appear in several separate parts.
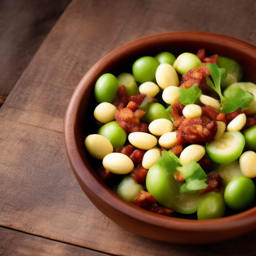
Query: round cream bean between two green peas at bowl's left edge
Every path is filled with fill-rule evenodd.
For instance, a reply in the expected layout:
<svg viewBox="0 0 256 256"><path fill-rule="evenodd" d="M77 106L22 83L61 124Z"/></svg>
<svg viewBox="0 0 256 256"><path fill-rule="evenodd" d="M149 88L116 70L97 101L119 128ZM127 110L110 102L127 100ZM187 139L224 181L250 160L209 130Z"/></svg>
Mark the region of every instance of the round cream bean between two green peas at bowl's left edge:
<svg viewBox="0 0 256 256"><path fill-rule="evenodd" d="M95 107L93 115L96 120L107 123L115 119L115 111L116 107L113 104L101 102Z"/></svg>

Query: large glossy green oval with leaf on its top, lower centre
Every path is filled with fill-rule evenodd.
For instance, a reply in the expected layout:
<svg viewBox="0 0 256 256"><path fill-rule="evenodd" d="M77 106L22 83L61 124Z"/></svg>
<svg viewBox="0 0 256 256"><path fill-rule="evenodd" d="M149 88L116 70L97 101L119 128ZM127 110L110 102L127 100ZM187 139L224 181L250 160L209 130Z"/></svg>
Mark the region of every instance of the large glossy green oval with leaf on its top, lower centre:
<svg viewBox="0 0 256 256"><path fill-rule="evenodd" d="M173 173L180 165L171 151L163 151L162 156L147 172L146 189L164 207L170 208L179 194L178 182Z"/></svg>

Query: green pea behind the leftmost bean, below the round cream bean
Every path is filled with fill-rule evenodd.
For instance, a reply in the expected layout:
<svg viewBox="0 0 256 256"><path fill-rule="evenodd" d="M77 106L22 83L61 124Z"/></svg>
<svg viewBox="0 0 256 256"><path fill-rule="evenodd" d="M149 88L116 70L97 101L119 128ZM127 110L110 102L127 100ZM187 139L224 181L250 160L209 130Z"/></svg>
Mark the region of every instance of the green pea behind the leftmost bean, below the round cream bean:
<svg viewBox="0 0 256 256"><path fill-rule="evenodd" d="M126 132L117 124L116 121L105 123L98 129L97 134L106 137L112 144L113 150L121 148L126 140Z"/></svg>

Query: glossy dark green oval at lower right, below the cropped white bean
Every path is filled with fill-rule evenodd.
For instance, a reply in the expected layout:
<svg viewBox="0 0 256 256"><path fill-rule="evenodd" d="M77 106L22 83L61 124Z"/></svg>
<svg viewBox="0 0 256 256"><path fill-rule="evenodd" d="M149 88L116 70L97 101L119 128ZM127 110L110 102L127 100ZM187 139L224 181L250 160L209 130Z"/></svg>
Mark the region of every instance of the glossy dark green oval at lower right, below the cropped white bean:
<svg viewBox="0 0 256 256"><path fill-rule="evenodd" d="M232 209L246 209L255 196L255 185L253 181L245 176L233 178L224 191L225 203Z"/></svg>

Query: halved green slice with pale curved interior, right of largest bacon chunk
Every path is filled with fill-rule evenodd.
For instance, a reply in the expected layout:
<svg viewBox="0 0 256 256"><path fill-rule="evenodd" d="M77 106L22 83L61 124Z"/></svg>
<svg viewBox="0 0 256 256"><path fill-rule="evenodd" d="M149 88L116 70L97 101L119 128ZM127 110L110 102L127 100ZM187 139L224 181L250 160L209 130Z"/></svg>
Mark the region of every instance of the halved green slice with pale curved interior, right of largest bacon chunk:
<svg viewBox="0 0 256 256"><path fill-rule="evenodd" d="M228 163L237 159L245 145L240 131L225 131L217 140L205 144L206 152L213 162Z"/></svg>

